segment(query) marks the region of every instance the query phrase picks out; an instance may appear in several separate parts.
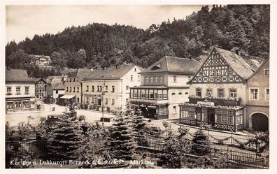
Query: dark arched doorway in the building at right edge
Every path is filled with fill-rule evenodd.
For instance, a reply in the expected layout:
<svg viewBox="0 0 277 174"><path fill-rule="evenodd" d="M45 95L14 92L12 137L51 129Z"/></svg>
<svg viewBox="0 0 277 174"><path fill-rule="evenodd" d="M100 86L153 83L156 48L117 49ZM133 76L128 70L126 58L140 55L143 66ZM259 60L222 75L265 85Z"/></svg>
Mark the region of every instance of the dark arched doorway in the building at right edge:
<svg viewBox="0 0 277 174"><path fill-rule="evenodd" d="M255 113L252 115L252 128L255 131L268 131L269 119L267 115L262 113Z"/></svg>

